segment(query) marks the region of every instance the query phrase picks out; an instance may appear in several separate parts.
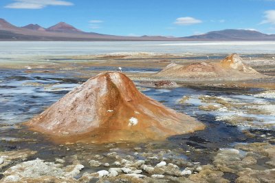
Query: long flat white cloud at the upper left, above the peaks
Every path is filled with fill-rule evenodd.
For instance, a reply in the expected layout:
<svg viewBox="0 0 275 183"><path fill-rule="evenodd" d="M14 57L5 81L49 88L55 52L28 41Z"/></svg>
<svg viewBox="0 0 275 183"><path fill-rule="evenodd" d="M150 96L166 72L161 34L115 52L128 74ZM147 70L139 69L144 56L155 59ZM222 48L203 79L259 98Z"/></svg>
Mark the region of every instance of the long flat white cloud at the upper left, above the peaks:
<svg viewBox="0 0 275 183"><path fill-rule="evenodd" d="M14 3L10 3L5 8L13 9L42 9L47 6L73 6L74 3L61 0L14 0Z"/></svg>

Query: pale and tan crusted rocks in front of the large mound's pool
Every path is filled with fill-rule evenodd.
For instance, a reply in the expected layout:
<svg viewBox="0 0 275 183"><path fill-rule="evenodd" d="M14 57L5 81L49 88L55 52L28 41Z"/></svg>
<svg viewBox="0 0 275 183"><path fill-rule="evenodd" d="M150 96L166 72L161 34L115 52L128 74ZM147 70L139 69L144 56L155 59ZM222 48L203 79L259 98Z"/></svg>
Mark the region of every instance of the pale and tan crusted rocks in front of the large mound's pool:
<svg viewBox="0 0 275 183"><path fill-rule="evenodd" d="M274 139L239 143L218 149L209 164L179 158L199 149L151 149L129 147L122 154L118 144L107 144L109 152L93 154L78 144L81 153L48 162L36 151L1 152L2 182L274 182ZM67 149L74 148L67 144ZM151 150L148 150L151 149ZM72 150L67 150L72 151ZM124 151L124 149L123 149ZM201 152L202 153L202 152ZM87 171L89 170L89 171ZM92 170L92 171L91 171Z"/></svg>

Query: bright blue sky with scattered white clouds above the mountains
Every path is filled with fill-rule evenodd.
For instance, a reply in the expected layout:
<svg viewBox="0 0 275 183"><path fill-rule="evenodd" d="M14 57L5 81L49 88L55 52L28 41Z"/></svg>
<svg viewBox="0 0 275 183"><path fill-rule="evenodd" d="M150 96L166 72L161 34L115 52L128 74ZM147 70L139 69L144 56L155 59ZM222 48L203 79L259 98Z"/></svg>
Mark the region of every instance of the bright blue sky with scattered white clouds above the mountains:
<svg viewBox="0 0 275 183"><path fill-rule="evenodd" d="M85 32L123 36L224 29L275 34L275 0L0 0L0 18L44 28L65 21Z"/></svg>

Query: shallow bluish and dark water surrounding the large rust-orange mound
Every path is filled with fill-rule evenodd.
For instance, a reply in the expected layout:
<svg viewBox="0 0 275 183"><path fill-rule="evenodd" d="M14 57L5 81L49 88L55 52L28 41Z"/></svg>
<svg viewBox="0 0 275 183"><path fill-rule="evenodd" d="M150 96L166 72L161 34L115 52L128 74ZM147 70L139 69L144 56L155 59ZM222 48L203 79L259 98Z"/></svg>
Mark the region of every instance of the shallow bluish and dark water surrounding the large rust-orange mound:
<svg viewBox="0 0 275 183"><path fill-rule="evenodd" d="M88 67L87 69L91 72L102 72L114 68ZM156 69L132 67L125 68L125 70L130 74L156 71ZM56 73L28 73L28 69L0 69L0 151L31 149L38 151L38 153L28 160L41 158L53 162L55 158L64 158L66 160L65 164L71 164L72 160L70 158L72 158L72 155L77 155L78 160L85 166L83 173L91 173L102 170L102 167L91 168L89 166L89 160L93 160L96 154L107 155L107 153L116 152L123 158L131 155L136 160L144 160L142 153L136 154L136 151L133 150L134 147L140 147L141 152L150 153L152 156L164 152L163 157L170 158L173 161L208 164L212 163L212 158L221 148L231 148L238 143L263 142L266 138L275 137L272 127L264 129L250 127L250 131L257 134L250 138L241 132L243 125L232 126L225 121L217 121L217 117L224 114L228 115L228 111L203 111L199 109L200 105L205 105L199 100L199 96L217 96L224 100L234 101L234 103L274 103L274 98L257 96L257 94L263 92L261 90L217 90L188 87L155 88L144 87L139 82L136 82L136 85L142 88L144 94L158 100L167 107L201 120L206 124L206 129L191 134L172 136L164 142L146 144L59 145L51 142L47 136L28 131L20 124L41 113L75 86L85 82L85 79L80 77L81 74L77 75L79 78L76 77L76 72L78 71L74 69ZM182 96L190 96L190 99L184 105L179 104ZM263 115L256 117L263 118L265 122L274 122L274 116L272 115L269 115L268 118ZM110 163L114 162L115 159L104 157L100 161ZM156 163L157 161L153 162L153 165ZM8 166L5 169L8 169ZM228 177L229 180L236 178L234 174L225 174L225 177Z"/></svg>

